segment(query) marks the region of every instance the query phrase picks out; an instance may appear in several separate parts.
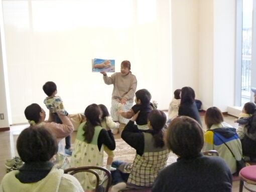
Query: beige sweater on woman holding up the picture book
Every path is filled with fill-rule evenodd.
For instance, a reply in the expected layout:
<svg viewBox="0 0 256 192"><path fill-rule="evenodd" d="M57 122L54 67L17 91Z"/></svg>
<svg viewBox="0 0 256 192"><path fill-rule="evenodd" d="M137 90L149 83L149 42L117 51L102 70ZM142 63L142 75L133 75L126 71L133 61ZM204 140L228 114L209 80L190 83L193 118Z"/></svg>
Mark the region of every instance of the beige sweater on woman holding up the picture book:
<svg viewBox="0 0 256 192"><path fill-rule="evenodd" d="M125 76L122 76L120 72L114 73L111 77L103 75L103 80L107 85L114 85L112 99L120 101L123 98L127 102L133 102L137 79L131 72Z"/></svg>

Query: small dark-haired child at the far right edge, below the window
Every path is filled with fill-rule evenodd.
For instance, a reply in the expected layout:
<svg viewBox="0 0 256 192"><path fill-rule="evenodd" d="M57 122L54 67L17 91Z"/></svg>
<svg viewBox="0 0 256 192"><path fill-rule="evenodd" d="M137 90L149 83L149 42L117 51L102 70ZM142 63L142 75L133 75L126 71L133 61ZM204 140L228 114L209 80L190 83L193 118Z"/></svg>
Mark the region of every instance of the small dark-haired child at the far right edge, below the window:
<svg viewBox="0 0 256 192"><path fill-rule="evenodd" d="M256 106L253 102L245 103L239 118L234 120L235 123L239 123L236 133L240 139L244 137L244 126L248 123L249 117L254 113L255 109Z"/></svg>

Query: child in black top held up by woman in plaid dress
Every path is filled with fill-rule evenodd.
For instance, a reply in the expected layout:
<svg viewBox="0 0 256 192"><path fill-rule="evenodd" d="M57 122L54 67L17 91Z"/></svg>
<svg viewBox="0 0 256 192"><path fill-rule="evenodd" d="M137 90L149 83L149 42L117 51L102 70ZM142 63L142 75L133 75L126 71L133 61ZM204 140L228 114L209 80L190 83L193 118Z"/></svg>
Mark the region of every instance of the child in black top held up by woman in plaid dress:
<svg viewBox="0 0 256 192"><path fill-rule="evenodd" d="M153 110L151 103L151 94L147 89L140 89L135 93L135 105L130 111L119 111L118 113L127 119L132 118L138 111L140 111L136 123L138 129L147 130L148 127L148 114Z"/></svg>

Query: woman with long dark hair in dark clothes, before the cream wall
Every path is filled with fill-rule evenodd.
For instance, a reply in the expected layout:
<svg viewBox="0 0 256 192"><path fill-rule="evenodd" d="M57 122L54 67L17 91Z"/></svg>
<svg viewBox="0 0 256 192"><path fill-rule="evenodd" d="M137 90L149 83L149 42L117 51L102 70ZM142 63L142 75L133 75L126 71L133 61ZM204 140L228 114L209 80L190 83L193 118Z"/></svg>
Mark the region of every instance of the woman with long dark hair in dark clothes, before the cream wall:
<svg viewBox="0 0 256 192"><path fill-rule="evenodd" d="M195 91L191 87L183 87L181 89L181 101L178 115L191 117L202 125L195 103Z"/></svg>

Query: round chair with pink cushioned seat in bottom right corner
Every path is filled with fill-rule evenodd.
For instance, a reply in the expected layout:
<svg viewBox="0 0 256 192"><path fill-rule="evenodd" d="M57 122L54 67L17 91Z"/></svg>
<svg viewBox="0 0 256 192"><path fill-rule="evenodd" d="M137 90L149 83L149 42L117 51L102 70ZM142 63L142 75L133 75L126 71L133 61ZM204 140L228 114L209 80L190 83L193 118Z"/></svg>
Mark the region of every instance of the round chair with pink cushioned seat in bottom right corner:
<svg viewBox="0 0 256 192"><path fill-rule="evenodd" d="M249 186L247 185L247 184L256 185L256 165L243 167L239 172L239 177L240 177L239 192L242 192L243 186L248 191L256 192L256 189L249 188Z"/></svg>

